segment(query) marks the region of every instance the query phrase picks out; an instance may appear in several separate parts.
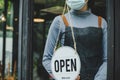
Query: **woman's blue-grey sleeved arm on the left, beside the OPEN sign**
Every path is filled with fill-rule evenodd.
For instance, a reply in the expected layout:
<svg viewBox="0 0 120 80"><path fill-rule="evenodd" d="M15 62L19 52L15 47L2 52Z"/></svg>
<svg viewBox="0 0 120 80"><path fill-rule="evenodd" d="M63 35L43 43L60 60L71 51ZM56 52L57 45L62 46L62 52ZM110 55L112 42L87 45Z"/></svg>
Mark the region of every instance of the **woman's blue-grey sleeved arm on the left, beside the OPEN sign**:
<svg viewBox="0 0 120 80"><path fill-rule="evenodd" d="M59 33L59 25L60 25L59 19L60 19L59 17L56 17L50 26L45 49L44 49L43 60L42 60L44 68L50 75L52 75L51 74L52 73L51 72L51 59L52 59L56 39Z"/></svg>

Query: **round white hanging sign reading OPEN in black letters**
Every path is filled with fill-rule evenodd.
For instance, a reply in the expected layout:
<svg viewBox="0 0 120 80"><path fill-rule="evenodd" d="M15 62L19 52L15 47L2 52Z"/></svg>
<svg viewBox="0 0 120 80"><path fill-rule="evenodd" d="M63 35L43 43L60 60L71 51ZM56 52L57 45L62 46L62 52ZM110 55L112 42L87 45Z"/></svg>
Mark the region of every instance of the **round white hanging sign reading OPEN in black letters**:
<svg viewBox="0 0 120 80"><path fill-rule="evenodd" d="M60 47L53 54L51 68L56 80L75 80L81 68L78 53L69 46Z"/></svg>

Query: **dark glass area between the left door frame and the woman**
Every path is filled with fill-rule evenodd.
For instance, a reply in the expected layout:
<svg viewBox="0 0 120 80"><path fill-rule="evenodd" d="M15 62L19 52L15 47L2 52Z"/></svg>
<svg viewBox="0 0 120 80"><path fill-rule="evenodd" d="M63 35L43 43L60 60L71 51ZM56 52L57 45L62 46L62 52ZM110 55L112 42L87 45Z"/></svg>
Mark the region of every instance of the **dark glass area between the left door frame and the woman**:
<svg viewBox="0 0 120 80"><path fill-rule="evenodd" d="M42 56L50 24L56 15L61 14L63 3L64 0L34 0L33 80L49 80L49 75L42 65ZM50 9L50 15L48 14L49 11L46 12L47 8ZM60 9L54 11L56 8ZM49 17L46 17L48 15Z"/></svg>

